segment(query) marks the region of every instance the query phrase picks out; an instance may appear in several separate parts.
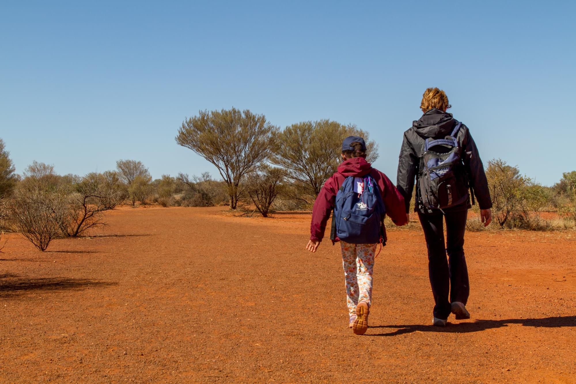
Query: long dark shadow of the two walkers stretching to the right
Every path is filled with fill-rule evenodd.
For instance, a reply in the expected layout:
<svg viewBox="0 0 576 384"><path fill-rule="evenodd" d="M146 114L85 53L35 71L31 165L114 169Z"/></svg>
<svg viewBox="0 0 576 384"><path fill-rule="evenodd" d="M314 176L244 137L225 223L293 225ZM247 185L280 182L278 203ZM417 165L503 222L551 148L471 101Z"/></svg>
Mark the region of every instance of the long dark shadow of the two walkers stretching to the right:
<svg viewBox="0 0 576 384"><path fill-rule="evenodd" d="M525 327L576 327L576 316L544 317L541 319L502 319L502 320L475 320L470 322L448 323L445 327L433 325L377 325L369 328L393 328L392 332L369 334L366 336L397 336L412 332L449 332L468 333L479 332L486 329L506 327L509 324L521 324Z"/></svg>

